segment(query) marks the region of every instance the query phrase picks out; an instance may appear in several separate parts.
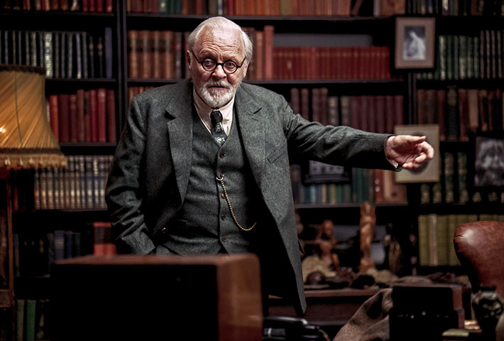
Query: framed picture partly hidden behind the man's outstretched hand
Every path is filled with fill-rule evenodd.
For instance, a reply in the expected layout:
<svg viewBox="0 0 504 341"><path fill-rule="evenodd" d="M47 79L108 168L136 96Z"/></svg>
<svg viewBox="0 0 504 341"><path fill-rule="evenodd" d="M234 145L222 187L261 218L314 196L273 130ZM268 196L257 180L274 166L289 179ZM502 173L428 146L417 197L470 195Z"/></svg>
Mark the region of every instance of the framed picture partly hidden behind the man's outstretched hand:
<svg viewBox="0 0 504 341"><path fill-rule="evenodd" d="M439 181L439 126L437 124L409 124L395 126L396 135L427 136L427 142L434 148L434 158L414 171L403 169L395 173L398 183L435 183Z"/></svg>

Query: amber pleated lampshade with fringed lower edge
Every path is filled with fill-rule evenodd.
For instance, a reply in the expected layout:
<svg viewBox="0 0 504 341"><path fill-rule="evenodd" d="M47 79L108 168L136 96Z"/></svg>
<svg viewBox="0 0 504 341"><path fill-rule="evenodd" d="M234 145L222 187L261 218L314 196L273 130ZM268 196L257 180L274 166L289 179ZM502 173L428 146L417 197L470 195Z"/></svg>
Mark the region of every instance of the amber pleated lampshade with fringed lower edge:
<svg viewBox="0 0 504 341"><path fill-rule="evenodd" d="M65 166L45 107L45 71L0 65L0 167Z"/></svg>

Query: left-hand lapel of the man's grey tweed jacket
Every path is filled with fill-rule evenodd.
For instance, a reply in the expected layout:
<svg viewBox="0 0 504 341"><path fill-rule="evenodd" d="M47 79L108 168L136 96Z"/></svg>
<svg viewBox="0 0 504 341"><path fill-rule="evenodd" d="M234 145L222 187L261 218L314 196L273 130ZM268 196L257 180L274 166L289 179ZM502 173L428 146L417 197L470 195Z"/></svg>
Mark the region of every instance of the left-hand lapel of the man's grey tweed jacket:
<svg viewBox="0 0 504 341"><path fill-rule="evenodd" d="M179 93L167 94L174 100L166 107L170 152L181 202L189 182L192 156L192 82L184 85Z"/></svg>

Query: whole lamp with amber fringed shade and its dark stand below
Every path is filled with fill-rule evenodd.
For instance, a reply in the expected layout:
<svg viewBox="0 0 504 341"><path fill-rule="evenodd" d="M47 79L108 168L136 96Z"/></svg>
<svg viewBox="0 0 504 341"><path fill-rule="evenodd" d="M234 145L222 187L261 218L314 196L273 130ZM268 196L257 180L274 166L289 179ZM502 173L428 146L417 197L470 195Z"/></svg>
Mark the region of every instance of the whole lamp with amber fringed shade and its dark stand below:
<svg viewBox="0 0 504 341"><path fill-rule="evenodd" d="M64 167L65 163L46 114L45 70L25 65L0 65L0 320L9 321L0 323L0 335L13 333L9 174L22 168Z"/></svg>

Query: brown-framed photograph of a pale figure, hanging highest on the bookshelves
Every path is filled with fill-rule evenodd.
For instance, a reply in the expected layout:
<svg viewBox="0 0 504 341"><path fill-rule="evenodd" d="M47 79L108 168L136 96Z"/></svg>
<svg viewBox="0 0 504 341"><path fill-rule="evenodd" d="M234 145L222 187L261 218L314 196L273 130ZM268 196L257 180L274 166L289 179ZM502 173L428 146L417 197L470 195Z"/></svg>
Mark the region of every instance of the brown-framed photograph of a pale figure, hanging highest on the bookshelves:
<svg viewBox="0 0 504 341"><path fill-rule="evenodd" d="M395 18L395 68L434 68L434 18Z"/></svg>

